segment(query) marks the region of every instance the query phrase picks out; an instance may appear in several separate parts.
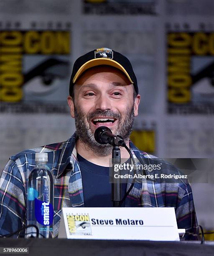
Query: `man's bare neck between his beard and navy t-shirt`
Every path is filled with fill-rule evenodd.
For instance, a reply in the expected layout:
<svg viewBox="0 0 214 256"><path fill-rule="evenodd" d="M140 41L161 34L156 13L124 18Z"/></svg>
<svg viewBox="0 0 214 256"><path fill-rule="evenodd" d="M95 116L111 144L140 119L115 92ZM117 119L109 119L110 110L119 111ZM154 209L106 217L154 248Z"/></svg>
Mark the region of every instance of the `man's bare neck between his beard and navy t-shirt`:
<svg viewBox="0 0 214 256"><path fill-rule="evenodd" d="M126 142L127 147L129 148L128 141ZM108 156L97 156L93 150L88 148L81 140L76 141L76 151L80 154L84 159L92 162L93 164L97 164L100 166L107 166L112 162L112 153ZM120 147L120 156L121 159L128 159L130 155L128 151L124 147Z"/></svg>

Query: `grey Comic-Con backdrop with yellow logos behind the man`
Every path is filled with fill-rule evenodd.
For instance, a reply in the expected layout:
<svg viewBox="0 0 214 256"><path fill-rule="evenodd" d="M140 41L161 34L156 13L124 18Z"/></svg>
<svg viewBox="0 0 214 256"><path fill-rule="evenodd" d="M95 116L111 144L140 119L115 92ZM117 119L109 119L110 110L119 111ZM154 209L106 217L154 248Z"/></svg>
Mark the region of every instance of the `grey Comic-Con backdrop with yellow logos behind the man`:
<svg viewBox="0 0 214 256"><path fill-rule="evenodd" d="M71 68L100 47L132 62L138 148L162 158L213 158L213 9L212 0L0 0L0 169L19 151L72 135ZM209 230L211 180L192 184L199 223Z"/></svg>

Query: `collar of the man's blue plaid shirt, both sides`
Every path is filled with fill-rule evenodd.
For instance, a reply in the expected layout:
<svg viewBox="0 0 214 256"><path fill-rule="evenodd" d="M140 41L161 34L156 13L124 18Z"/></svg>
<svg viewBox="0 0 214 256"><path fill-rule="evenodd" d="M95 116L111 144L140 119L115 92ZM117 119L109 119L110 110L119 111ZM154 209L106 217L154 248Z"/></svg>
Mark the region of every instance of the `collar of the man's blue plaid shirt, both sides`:
<svg viewBox="0 0 214 256"><path fill-rule="evenodd" d="M64 170L66 169L66 166L68 166L68 164L71 164L71 169L74 170L74 163L77 161L76 158L76 140L78 139L78 136L75 133L71 136L71 138L69 138L65 143L64 146L61 149L61 154L59 156L59 164L58 164L58 172L57 172L57 176L56 178L59 178L60 175L64 172ZM143 151L140 151L133 143L132 141L129 141L129 146L131 149L131 152L134 156L135 159L138 159L138 161L140 162L140 164L142 164L142 160L143 158L151 158L151 156ZM145 170L146 175L151 175L150 172L148 172L148 170ZM151 179L155 181L155 178Z"/></svg>

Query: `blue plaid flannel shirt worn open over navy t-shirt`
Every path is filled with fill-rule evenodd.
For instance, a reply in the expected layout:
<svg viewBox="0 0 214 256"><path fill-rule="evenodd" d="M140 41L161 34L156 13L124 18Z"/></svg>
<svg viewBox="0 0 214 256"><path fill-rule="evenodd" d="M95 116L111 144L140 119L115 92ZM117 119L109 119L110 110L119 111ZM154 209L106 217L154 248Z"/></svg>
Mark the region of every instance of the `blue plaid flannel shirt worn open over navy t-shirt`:
<svg viewBox="0 0 214 256"><path fill-rule="evenodd" d="M22 151L11 156L0 178L0 235L13 233L26 224L26 192L28 175L36 165L35 153L48 153L48 167L54 176L53 236L58 236L62 207L84 207L84 192L79 163L76 158L76 133L66 142ZM130 141L136 163L151 156L140 151ZM165 173L180 174L171 164L164 163ZM141 160L141 161L140 161ZM146 174L151 174L147 170ZM132 179L127 181L127 190ZM178 228L186 229L186 239L197 239L196 214L188 181L158 182L156 179L137 180L125 200L125 207L174 207Z"/></svg>

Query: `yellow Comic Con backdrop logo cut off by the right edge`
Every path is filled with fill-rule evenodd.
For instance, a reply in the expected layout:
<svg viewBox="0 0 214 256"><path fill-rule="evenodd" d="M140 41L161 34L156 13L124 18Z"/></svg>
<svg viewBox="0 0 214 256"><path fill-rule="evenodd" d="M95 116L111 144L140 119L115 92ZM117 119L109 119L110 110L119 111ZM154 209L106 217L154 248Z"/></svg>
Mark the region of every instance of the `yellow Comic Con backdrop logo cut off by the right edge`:
<svg viewBox="0 0 214 256"><path fill-rule="evenodd" d="M169 114L214 114L214 31L167 34Z"/></svg>

